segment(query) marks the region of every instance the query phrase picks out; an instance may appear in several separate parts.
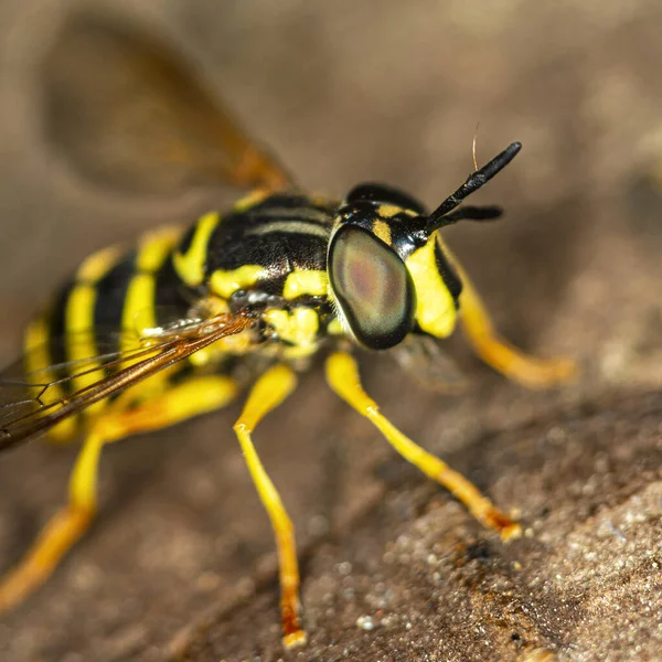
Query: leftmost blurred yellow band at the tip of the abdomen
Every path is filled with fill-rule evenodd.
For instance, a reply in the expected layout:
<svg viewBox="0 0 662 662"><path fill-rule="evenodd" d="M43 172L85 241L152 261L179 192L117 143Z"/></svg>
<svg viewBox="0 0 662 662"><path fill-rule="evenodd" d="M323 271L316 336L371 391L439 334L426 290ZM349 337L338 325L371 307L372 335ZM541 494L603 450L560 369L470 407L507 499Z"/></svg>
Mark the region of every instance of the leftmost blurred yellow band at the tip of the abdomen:
<svg viewBox="0 0 662 662"><path fill-rule="evenodd" d="M52 371L46 370L53 362L49 353L49 327L43 318L32 320L25 330L25 372L38 373L34 375L34 381L45 383L55 378ZM41 387L35 391L41 392ZM45 405L57 402L64 396L62 388L57 384L50 386L43 394L41 401ZM63 421L53 426L49 430L49 437L53 441L64 442L70 441L76 431L76 417L71 416Z"/></svg>

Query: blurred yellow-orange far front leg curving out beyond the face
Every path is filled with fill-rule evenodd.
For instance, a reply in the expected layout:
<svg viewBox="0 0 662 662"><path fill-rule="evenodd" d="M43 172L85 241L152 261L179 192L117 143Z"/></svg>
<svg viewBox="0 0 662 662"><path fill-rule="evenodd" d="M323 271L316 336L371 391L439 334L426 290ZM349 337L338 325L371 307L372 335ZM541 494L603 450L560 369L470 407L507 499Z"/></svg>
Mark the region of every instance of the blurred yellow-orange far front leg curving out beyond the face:
<svg viewBox="0 0 662 662"><path fill-rule="evenodd" d="M444 250L448 252L446 245ZM577 374L577 365L570 359L545 360L530 356L499 338L471 279L455 257L452 264L462 280L460 295L462 331L476 354L488 365L530 388L553 386Z"/></svg>

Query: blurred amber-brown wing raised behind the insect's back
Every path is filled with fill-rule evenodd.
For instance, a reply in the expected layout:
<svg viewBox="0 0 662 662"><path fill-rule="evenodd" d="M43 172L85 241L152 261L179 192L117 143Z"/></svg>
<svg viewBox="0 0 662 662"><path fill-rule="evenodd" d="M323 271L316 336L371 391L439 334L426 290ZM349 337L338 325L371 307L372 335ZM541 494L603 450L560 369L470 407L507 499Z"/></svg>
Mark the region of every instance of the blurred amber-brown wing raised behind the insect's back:
<svg viewBox="0 0 662 662"><path fill-rule="evenodd" d="M42 76L46 139L96 184L134 193L291 185L174 49L117 18L74 13Z"/></svg>

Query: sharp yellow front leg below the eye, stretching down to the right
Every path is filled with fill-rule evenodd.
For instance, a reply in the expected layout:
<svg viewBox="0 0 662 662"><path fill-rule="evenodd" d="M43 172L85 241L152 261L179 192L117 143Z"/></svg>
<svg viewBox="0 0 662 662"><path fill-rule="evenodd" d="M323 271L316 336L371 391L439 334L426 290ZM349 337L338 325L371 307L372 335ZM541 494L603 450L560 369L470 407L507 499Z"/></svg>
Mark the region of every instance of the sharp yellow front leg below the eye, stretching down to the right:
<svg viewBox="0 0 662 662"><path fill-rule="evenodd" d="M463 476L405 437L380 414L375 402L361 386L356 362L352 356L344 352L331 354L327 360L327 380L342 399L373 423L397 452L449 490L481 524L498 531L504 541L521 535L520 525L498 510Z"/></svg>

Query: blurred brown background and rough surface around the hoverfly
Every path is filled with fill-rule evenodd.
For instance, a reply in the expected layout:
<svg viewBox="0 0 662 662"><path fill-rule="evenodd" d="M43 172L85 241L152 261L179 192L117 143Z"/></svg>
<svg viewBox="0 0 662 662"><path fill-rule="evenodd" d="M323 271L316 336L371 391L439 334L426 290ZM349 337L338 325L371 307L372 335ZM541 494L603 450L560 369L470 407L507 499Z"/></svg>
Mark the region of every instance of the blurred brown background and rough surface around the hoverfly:
<svg viewBox="0 0 662 662"><path fill-rule="evenodd" d="M49 115L50 65L67 21L90 4L0 0L6 362L35 308L90 252L236 196L166 180L148 192L105 188L57 149L52 136L66 118ZM434 206L472 170L477 125L479 163L513 140L524 146L472 199L503 204L503 221L447 238L503 334L576 356L583 376L525 392L456 339L449 349L470 378L459 396L405 382L388 356L366 355L363 366L392 420L500 504L521 508L531 535L503 548L393 457L319 371L306 375L256 435L305 558L311 645L287 659L659 651L662 7L119 0L94 9L170 43L307 191L342 197L385 181ZM97 73L107 74L103 63ZM105 451L102 516L53 580L0 623L0 658L284 655L273 541L231 434L237 413ZM33 444L0 458L2 567L63 501L74 457L75 448Z"/></svg>

